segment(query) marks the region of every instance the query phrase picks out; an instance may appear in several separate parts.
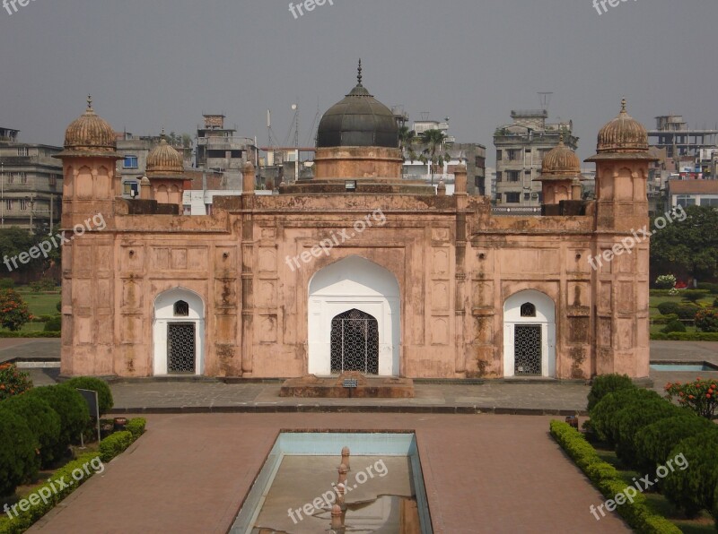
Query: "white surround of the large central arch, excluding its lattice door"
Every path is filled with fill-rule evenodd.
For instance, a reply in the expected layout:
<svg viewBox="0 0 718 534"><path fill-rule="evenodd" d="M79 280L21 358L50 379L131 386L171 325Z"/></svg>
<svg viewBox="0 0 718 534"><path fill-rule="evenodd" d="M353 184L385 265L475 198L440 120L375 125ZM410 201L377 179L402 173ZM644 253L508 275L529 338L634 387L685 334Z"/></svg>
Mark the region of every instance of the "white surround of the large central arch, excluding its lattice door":
<svg viewBox="0 0 718 534"><path fill-rule="evenodd" d="M331 320L357 309L379 323L379 375L399 375L401 322L398 280L383 267L349 256L318 271L309 283L311 375L331 374Z"/></svg>

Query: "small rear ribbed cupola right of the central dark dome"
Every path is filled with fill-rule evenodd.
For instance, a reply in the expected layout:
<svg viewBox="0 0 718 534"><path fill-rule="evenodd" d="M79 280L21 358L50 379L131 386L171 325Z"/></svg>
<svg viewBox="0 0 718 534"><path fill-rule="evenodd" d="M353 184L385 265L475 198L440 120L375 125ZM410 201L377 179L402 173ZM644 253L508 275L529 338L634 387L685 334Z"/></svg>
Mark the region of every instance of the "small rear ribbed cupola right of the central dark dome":
<svg viewBox="0 0 718 534"><path fill-rule="evenodd" d="M576 180L581 180L581 160L565 145L562 132L558 145L543 160L540 177L536 178L541 182L543 203L552 205L565 200L581 200L580 196L574 198Z"/></svg>

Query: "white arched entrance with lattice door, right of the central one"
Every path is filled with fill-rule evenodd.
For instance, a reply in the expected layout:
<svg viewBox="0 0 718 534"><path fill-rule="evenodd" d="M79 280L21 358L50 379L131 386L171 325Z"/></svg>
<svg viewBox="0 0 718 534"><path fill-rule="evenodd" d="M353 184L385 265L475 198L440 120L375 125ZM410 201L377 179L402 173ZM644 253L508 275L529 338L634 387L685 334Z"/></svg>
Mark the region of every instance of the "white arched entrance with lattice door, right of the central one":
<svg viewBox="0 0 718 534"><path fill-rule="evenodd" d="M503 375L556 376L556 305L534 289L503 305Z"/></svg>

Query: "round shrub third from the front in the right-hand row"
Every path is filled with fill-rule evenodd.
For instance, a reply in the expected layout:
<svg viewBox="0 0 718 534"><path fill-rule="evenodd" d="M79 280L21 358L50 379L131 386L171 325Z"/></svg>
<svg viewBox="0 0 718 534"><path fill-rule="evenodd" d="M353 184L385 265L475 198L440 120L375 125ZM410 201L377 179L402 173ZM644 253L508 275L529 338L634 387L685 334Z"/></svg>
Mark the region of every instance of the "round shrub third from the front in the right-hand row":
<svg viewBox="0 0 718 534"><path fill-rule="evenodd" d="M630 403L616 414L616 454L628 465L638 467L635 435L655 421L672 418L684 410L664 399Z"/></svg>

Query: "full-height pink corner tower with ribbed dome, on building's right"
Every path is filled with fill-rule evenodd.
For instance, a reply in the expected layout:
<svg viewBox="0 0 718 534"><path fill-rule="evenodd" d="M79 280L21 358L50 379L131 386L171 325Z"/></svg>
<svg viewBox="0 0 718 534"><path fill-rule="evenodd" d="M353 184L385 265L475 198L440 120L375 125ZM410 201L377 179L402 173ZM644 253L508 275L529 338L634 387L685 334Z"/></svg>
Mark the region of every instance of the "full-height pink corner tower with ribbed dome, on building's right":
<svg viewBox="0 0 718 534"><path fill-rule="evenodd" d="M626 112L599 134L596 163L596 220L591 263L595 303L595 375L649 375L646 180L648 134Z"/></svg>

